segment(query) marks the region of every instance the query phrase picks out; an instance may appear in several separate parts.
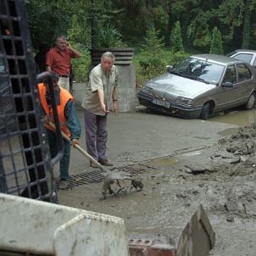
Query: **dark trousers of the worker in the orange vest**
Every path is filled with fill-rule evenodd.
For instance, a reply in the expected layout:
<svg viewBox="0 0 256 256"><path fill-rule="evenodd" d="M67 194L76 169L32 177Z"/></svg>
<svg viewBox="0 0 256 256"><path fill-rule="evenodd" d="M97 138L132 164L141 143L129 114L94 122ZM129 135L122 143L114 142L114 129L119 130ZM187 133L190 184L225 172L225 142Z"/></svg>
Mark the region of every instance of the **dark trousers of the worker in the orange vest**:
<svg viewBox="0 0 256 256"><path fill-rule="evenodd" d="M47 130L48 142L50 147L51 158L54 158L58 152L56 134L53 131ZM64 156L59 161L59 178L69 178L70 167L70 142L64 140Z"/></svg>

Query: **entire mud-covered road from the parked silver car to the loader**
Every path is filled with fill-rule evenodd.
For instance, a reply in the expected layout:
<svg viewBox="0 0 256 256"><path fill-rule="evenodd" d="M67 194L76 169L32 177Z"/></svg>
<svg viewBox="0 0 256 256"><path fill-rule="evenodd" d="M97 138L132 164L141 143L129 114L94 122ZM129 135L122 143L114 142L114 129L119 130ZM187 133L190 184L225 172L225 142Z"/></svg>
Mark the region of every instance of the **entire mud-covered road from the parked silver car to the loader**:
<svg viewBox="0 0 256 256"><path fill-rule="evenodd" d="M248 116L250 123L253 112ZM173 245L202 203L216 235L210 255L256 255L256 131L239 129L248 125L245 120L225 124L222 118L182 120L143 111L110 115L109 160L136 170L143 190L100 200L103 184L91 183L58 191L59 203L119 216L129 238ZM73 149L70 175L90 171L88 160Z"/></svg>

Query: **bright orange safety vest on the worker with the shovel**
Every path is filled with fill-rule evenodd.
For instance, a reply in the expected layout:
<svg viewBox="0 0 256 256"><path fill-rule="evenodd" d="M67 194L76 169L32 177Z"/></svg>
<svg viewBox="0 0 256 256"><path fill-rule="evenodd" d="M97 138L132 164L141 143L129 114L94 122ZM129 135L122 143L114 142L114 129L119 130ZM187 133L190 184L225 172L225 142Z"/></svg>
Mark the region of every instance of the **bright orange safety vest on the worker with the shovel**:
<svg viewBox="0 0 256 256"><path fill-rule="evenodd" d="M53 122L53 109L48 107L47 100L46 100L46 93L47 93L47 88L44 86L43 83L38 84L38 91L40 95L40 100L42 103L42 108L44 109L46 113L47 120L50 120ZM70 130L68 126L66 125L67 119L65 118L64 115L64 109L66 106L66 103L71 100L74 101L74 97L70 94L70 92L64 90L63 88L59 87L59 100L60 100L60 105L57 105L57 111L58 111L58 120L60 123L60 129L61 131L64 131L64 133L67 136L70 136ZM54 123L54 122L53 122ZM53 127L50 125L45 125L48 130L54 131Z"/></svg>

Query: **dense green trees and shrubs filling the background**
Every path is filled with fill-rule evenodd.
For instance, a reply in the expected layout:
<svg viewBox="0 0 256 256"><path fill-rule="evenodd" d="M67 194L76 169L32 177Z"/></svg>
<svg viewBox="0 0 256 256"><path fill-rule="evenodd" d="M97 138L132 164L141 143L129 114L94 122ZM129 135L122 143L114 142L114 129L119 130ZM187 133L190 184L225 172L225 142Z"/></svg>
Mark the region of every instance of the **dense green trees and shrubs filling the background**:
<svg viewBox="0 0 256 256"><path fill-rule="evenodd" d="M142 46L142 53L139 53L136 73L143 73L147 77L152 75L151 70L154 70L155 74L160 74L164 71L165 64L170 64L170 61L175 61L175 58L180 58L183 54L168 51L171 56L167 59L164 55L166 52L163 53L162 42L169 45L170 33L178 20L181 22L180 38L186 50L190 48L193 52L201 53L209 51L213 39L211 31L214 26L218 27L222 35L225 52L240 47L255 48L256 0L24 0L24 2L31 41L35 49L38 49L42 43L53 46L58 35L67 36L72 46L75 42L85 49L96 44L104 47L125 47L125 45L141 47L145 39L147 47ZM147 38L150 38L148 34L150 25L154 25L154 30L158 31L158 34L155 38L151 37L152 42L147 42ZM95 37L92 37L93 32ZM96 42L93 41L94 39ZM174 42L178 41L175 39ZM177 51L180 48L174 47L173 50ZM75 73L86 77L82 70L88 65L86 61L87 58L89 60L89 55L83 54L86 54L86 58L74 61L78 70ZM78 65L80 62L81 69ZM148 66L153 68L149 69Z"/></svg>

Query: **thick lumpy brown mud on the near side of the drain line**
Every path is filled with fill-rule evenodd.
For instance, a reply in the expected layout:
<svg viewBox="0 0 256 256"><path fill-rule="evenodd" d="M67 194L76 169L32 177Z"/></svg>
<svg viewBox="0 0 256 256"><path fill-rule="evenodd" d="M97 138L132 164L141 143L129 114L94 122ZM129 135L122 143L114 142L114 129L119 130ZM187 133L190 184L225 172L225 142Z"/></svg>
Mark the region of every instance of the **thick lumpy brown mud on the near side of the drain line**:
<svg viewBox="0 0 256 256"><path fill-rule="evenodd" d="M191 120L190 124L193 122L197 121ZM200 125L202 136L194 133L201 142L194 143L195 147L170 151L165 156L153 157L147 152L149 158L142 160L133 155L136 160L129 167L142 178L142 191L130 192L130 181L125 181L122 186L127 189L101 200L103 183L92 183L58 191L59 203L123 218L128 238L149 238L173 245L202 203L216 234L209 255L255 255L256 131L247 126L233 130L229 136L212 132L211 139L205 142L204 129L213 124ZM221 127L228 130L235 126ZM123 157L132 160L129 151Z"/></svg>

